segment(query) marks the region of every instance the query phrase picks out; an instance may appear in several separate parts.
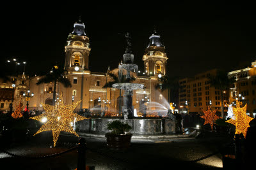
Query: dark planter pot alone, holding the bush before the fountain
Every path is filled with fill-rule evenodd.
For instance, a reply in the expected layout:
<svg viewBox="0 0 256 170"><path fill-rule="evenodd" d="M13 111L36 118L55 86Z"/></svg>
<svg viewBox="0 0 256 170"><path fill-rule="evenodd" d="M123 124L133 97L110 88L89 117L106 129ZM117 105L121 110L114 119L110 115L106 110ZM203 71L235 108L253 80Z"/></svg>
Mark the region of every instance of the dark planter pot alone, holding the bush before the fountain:
<svg viewBox="0 0 256 170"><path fill-rule="evenodd" d="M111 133L106 133L107 146L109 148L124 149L129 148L131 145L132 134L115 135Z"/></svg>

